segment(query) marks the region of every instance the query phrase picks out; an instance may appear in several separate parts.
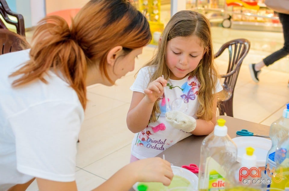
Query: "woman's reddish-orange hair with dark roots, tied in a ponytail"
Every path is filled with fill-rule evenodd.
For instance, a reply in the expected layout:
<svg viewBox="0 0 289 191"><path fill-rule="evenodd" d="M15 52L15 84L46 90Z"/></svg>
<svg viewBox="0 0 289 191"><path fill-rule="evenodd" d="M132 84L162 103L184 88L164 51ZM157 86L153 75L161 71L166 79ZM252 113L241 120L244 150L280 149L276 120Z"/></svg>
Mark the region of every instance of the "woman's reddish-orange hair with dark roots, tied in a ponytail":
<svg viewBox="0 0 289 191"><path fill-rule="evenodd" d="M42 19L33 34L30 60L12 76L20 76L13 87L40 79L53 68L60 71L86 107L86 70L99 63L101 74L107 74L107 54L122 46L123 56L151 40L148 21L129 0L91 0L72 19L71 26L58 16ZM55 72L56 74L58 72Z"/></svg>

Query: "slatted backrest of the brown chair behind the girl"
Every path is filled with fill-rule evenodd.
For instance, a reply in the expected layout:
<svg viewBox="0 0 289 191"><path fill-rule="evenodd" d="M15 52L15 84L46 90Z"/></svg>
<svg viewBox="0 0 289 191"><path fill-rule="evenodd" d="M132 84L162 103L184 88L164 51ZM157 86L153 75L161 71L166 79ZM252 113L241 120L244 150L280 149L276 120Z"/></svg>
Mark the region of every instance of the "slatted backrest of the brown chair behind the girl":
<svg viewBox="0 0 289 191"><path fill-rule="evenodd" d="M220 56L225 49L228 49L229 63L227 74L222 74L221 77L225 78L223 85L224 88L230 88L230 92L233 93L241 64L250 49L250 41L248 41L247 39L235 39L226 42L222 45L222 47L214 55L214 57L217 58L218 56Z"/></svg>

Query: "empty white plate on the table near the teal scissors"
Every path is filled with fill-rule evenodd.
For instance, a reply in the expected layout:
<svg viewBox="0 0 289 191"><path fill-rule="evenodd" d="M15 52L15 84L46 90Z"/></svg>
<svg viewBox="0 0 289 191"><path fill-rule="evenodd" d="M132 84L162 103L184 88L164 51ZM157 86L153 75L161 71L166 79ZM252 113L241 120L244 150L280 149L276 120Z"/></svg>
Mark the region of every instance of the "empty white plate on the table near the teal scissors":
<svg viewBox="0 0 289 191"><path fill-rule="evenodd" d="M255 149L254 154L257 157L257 166L265 166L267 153L272 146L270 139L255 136L242 136L232 138L232 140L237 145L238 162L241 162L243 154L246 153L246 148L253 147Z"/></svg>

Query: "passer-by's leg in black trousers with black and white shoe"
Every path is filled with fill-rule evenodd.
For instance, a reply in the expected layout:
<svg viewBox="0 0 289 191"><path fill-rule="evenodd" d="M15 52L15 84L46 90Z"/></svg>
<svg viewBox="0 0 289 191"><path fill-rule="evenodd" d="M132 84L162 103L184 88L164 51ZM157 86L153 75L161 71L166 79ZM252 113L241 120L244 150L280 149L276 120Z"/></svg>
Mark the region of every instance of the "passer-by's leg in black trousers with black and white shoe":
<svg viewBox="0 0 289 191"><path fill-rule="evenodd" d="M271 65L277 60L284 58L289 54L289 15L278 13L278 16L283 28L284 46L280 50L277 50L276 52L264 58L261 62L249 65L251 77L256 83L259 82L258 77L261 72L261 68Z"/></svg>

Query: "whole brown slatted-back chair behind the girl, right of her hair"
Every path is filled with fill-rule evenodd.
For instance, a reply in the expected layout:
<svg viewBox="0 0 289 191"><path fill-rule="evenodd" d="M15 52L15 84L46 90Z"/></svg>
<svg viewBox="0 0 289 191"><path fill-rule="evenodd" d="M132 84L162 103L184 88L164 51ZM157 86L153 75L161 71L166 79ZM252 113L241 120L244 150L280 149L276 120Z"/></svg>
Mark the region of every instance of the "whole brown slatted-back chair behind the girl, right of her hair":
<svg viewBox="0 0 289 191"><path fill-rule="evenodd" d="M225 49L228 49L229 60L227 74L221 75L224 78L223 90L217 93L219 115L227 114L233 117L233 96L243 59L250 49L250 41L247 39L235 39L222 45L214 55L215 59L220 56Z"/></svg>

